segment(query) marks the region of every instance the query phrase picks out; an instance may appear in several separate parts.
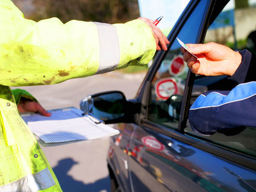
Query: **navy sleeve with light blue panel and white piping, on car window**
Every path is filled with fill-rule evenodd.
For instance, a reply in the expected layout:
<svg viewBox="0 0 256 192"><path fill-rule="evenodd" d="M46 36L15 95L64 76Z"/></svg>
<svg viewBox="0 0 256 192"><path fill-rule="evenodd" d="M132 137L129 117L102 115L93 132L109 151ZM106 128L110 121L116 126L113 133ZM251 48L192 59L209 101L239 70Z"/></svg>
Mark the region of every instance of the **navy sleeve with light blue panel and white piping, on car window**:
<svg viewBox="0 0 256 192"><path fill-rule="evenodd" d="M255 81L238 84L231 91L210 91L200 95L189 109L189 123L200 134L231 135L237 127L256 127L255 104Z"/></svg>

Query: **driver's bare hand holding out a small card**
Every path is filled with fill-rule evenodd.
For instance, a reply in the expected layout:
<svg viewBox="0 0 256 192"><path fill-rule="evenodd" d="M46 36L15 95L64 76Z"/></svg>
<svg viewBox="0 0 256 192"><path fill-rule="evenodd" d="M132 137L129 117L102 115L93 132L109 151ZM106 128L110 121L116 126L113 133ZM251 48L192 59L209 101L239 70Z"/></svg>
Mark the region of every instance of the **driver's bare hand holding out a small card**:
<svg viewBox="0 0 256 192"><path fill-rule="evenodd" d="M194 74L204 76L232 76L239 67L242 56L225 45L208 44L186 44L188 50L195 54L192 56L186 49L181 48L184 61Z"/></svg>

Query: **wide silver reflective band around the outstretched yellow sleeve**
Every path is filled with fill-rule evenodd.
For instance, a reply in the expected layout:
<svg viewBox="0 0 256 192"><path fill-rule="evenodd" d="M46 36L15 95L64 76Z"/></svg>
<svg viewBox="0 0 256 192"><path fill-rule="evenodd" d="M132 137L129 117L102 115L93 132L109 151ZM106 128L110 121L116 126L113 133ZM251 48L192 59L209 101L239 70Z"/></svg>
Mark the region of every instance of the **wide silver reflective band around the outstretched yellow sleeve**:
<svg viewBox="0 0 256 192"><path fill-rule="evenodd" d="M120 61L118 34L115 26L100 22L96 24L100 43L100 63L95 74L102 74L114 70Z"/></svg>

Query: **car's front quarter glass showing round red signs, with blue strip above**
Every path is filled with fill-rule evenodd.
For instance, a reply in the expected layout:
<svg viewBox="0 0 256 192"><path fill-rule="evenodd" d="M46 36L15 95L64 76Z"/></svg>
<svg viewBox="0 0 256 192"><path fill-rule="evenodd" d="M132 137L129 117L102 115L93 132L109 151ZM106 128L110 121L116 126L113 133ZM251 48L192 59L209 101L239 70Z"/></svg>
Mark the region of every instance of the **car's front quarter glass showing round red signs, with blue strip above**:
<svg viewBox="0 0 256 192"><path fill-rule="evenodd" d="M178 38L184 42L195 43L208 1L200 1L186 21ZM180 44L175 40L159 66L151 82L151 98L148 120L177 129L180 104L188 67L182 58Z"/></svg>

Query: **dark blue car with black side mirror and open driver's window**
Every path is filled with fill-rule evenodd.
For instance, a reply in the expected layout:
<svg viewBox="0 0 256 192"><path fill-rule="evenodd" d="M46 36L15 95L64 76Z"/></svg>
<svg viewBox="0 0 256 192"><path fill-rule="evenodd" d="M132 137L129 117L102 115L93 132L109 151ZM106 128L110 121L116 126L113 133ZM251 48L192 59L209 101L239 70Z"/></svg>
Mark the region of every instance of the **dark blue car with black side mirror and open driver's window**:
<svg viewBox="0 0 256 192"><path fill-rule="evenodd" d="M192 74L176 37L185 43L246 47L237 40L239 24L228 20L234 19L234 9L223 10L227 3L189 2L168 36L168 51L156 54L134 100L113 91L81 102L84 111L120 131L111 137L108 151L112 191L256 191L256 128L203 136L188 122L189 107L198 95L231 90L236 83L227 76Z"/></svg>

